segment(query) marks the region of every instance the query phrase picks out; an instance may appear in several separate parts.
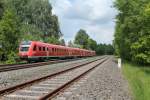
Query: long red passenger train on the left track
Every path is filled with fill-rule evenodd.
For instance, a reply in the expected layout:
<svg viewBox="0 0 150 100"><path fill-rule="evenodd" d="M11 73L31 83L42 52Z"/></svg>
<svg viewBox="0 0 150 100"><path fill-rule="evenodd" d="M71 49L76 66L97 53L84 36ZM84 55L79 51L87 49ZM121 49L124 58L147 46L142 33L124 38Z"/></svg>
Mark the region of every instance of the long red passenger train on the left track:
<svg viewBox="0 0 150 100"><path fill-rule="evenodd" d="M19 56L27 61L49 58L74 58L95 56L95 51L53 45L39 41L24 41L19 47Z"/></svg>

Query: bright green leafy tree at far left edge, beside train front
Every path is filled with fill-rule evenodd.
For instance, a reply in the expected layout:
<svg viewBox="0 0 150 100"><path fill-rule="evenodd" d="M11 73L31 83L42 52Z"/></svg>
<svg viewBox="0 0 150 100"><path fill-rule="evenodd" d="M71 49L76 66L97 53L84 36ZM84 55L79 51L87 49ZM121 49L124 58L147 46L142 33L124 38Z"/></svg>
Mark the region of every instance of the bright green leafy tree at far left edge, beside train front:
<svg viewBox="0 0 150 100"><path fill-rule="evenodd" d="M0 44L3 51L3 59L8 59L8 55L13 51L17 52L18 42L20 37L20 25L18 17L11 9L4 12L0 21Z"/></svg>

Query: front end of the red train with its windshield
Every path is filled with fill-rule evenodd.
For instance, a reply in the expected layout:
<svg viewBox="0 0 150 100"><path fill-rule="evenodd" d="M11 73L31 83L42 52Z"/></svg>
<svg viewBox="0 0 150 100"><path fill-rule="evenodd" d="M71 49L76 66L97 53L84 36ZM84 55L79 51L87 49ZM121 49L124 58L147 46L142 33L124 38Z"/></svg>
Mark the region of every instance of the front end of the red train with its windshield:
<svg viewBox="0 0 150 100"><path fill-rule="evenodd" d="M32 41L23 41L19 46L19 57L21 60L29 60L31 55L30 48L31 48Z"/></svg>

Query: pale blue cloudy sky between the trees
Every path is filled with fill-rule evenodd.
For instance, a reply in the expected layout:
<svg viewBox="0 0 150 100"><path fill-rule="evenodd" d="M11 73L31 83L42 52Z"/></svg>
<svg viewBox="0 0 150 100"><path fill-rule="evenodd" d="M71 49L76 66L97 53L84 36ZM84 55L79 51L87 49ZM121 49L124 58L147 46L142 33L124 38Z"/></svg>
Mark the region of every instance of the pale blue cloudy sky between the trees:
<svg viewBox="0 0 150 100"><path fill-rule="evenodd" d="M112 44L116 10L113 0L50 0L58 16L63 38L73 41L80 29L97 43Z"/></svg>

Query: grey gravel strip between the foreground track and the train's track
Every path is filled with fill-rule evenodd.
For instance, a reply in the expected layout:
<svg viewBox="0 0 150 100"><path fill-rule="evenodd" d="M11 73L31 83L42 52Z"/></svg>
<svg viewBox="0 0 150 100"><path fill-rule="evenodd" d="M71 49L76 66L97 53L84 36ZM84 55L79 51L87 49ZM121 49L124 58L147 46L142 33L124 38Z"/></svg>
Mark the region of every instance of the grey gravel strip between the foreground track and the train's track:
<svg viewBox="0 0 150 100"><path fill-rule="evenodd" d="M10 87L31 79L39 78L45 75L49 75L70 67L73 67L76 65L76 63L81 64L85 63L89 60L96 59L96 57L93 58L87 58L83 60L77 60L77 61L71 61L71 62L64 62L64 63L58 63L58 64L52 64L52 65L45 65L45 66L39 66L39 67L33 67L33 68L27 68L27 69L19 69L14 71L8 71L8 72L1 72L0 73L0 89Z"/></svg>

